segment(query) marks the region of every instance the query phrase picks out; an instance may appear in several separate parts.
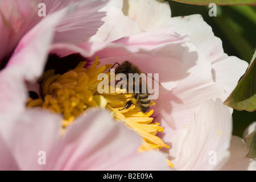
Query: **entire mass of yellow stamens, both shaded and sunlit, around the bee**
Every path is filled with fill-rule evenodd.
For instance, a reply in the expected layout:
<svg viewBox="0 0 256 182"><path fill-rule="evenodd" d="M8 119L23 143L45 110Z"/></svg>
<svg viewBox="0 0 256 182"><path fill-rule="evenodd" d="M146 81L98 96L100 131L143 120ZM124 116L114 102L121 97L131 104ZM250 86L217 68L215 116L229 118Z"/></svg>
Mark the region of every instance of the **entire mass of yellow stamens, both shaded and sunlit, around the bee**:
<svg viewBox="0 0 256 182"><path fill-rule="evenodd" d="M125 89L114 89L114 92L100 94L97 90L100 73L110 73L111 64L104 65L94 60L90 67L86 67L86 61L80 61L74 69L65 73L55 74L54 69L48 69L39 78L41 96L33 100L28 98L27 107L42 107L63 116L63 128L68 127L81 114L86 113L90 107L109 110L118 122L124 123L129 129L139 134L142 138L138 151L159 150L162 147L169 148L163 140L156 136L163 132L160 123L154 122L151 115L154 110L143 113L133 101L128 109L121 110L125 104L133 99L133 94L126 93ZM109 85L109 90L112 90ZM151 102L151 105L154 105Z"/></svg>

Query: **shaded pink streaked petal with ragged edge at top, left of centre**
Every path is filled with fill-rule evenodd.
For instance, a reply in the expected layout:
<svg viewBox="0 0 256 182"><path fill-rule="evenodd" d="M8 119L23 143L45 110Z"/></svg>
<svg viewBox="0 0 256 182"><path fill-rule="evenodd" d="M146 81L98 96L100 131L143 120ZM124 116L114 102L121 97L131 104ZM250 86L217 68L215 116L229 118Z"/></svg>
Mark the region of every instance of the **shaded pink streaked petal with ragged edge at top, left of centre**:
<svg viewBox="0 0 256 182"><path fill-rule="evenodd" d="M108 0L109 1L109 0ZM105 12L98 12L108 1L79 1L69 5L69 12L56 27L55 43L81 43L104 24Z"/></svg>

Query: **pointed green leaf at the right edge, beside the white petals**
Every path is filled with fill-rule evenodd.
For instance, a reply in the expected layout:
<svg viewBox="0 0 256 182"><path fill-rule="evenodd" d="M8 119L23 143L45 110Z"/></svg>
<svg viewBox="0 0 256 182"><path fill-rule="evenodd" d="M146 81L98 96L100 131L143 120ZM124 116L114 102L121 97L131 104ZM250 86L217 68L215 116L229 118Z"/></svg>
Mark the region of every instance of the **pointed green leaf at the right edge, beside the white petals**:
<svg viewBox="0 0 256 182"><path fill-rule="evenodd" d="M254 54L255 55L255 54ZM256 58L247 69L238 85L224 102L236 110L256 110Z"/></svg>

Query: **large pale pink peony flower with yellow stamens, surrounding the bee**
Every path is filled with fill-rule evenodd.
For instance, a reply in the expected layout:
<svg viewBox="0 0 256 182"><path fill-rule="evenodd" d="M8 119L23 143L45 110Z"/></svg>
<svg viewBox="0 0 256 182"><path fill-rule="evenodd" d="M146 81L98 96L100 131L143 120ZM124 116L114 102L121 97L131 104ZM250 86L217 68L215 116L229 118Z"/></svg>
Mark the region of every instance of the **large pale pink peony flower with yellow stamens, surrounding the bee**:
<svg viewBox="0 0 256 182"><path fill-rule="evenodd" d="M90 3L97 7L88 10L92 14L103 6L101 1ZM5 88L0 94L4 104L0 107L1 150L7 156L1 159L3 163L12 164L8 169L43 169L38 168L38 156L28 156L40 150L51 159L44 169L221 169L230 156L232 137L232 110L222 102L247 63L224 53L221 40L200 15L171 18L168 4L154 0L113 0L104 5L95 19L100 25L98 18L106 12L104 24L96 26L100 28L93 36L81 38L75 31L81 27L72 24L74 19L82 19L77 15L81 11L87 13L83 8L90 7L79 2L48 15L15 47L0 72ZM55 33L60 25L73 27ZM77 44L73 38L84 42ZM160 90L162 105L151 106L146 113L137 105L120 110L132 94L118 89L98 93L98 75L125 60L145 73L159 73L164 87ZM90 111L94 109L106 112ZM96 114L98 117L93 116ZM61 141L58 126L64 135ZM45 128L51 135L35 127ZM128 129L133 133L129 140ZM113 131L118 131L118 138ZM28 137L19 138L19 133ZM29 151L22 149L32 143L28 138L42 144ZM127 150L122 151L121 143ZM108 160L109 156L113 158ZM29 162L24 164L26 159ZM119 163L118 159L126 160Z"/></svg>

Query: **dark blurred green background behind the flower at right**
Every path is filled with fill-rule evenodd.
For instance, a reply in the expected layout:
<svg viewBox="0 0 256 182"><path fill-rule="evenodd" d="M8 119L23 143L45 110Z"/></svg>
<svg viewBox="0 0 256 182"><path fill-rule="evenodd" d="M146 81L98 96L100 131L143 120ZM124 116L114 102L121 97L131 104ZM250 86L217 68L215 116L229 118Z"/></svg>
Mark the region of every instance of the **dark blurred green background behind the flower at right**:
<svg viewBox="0 0 256 182"><path fill-rule="evenodd" d="M209 16L208 6L188 5L168 1L172 17L201 14L222 40L224 52L250 63L256 48L256 6L217 6L217 16ZM256 111L233 112L233 135L242 137L250 123L256 121Z"/></svg>

